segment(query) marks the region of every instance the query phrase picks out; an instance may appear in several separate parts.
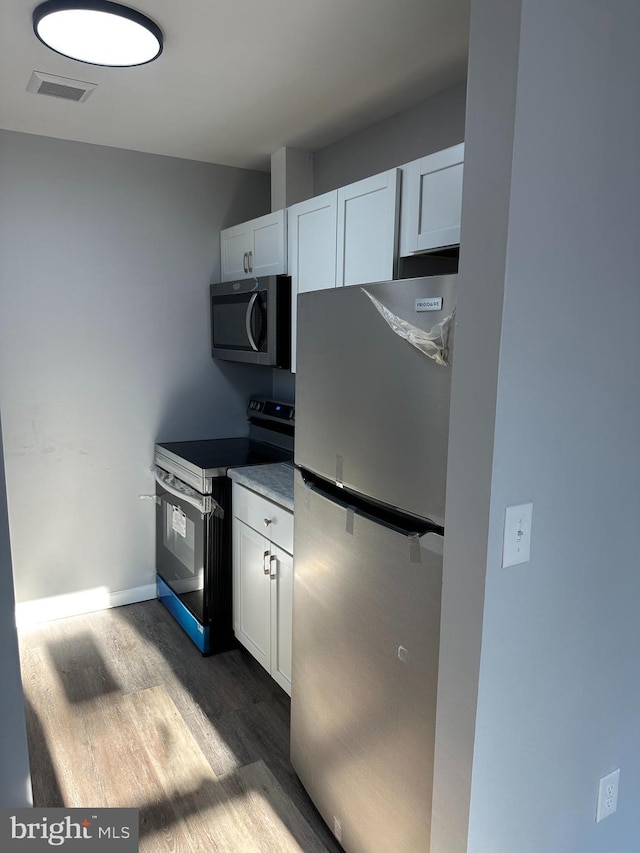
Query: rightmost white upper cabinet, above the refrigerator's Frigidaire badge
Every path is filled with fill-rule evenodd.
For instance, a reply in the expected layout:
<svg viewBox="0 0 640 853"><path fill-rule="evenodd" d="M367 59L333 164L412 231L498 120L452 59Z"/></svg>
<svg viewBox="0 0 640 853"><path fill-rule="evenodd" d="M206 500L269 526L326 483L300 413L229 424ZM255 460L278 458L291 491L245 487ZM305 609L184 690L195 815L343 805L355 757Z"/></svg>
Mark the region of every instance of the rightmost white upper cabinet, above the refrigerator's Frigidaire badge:
<svg viewBox="0 0 640 853"><path fill-rule="evenodd" d="M460 242L464 143L402 167L400 255Z"/></svg>

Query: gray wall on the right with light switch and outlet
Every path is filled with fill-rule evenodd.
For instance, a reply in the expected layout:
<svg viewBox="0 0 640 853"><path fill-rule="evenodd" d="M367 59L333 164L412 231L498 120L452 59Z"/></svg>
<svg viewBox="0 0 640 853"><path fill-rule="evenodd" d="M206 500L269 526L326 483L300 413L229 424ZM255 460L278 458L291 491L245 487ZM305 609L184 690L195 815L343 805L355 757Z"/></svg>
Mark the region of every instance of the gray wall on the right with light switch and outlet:
<svg viewBox="0 0 640 853"><path fill-rule="evenodd" d="M439 718L464 729L475 680L472 771L441 761L437 780L455 796L455 771L465 785L472 772L471 853L640 846L639 31L632 0L473 4L452 454L480 438L466 481L455 467L449 481L445 588L472 583L454 582L444 615L466 605L458 645L482 648L479 680L450 675ZM499 68L511 84L496 90ZM483 115L494 95L509 121ZM496 178L484 210L483 169ZM487 211L506 214L502 233ZM491 311L501 328L481 325ZM531 561L502 569L505 507L527 501ZM469 595L485 573L480 620ZM464 663L451 636L448 654ZM618 811L596 824L598 780L618 767ZM432 849L465 849L446 817Z"/></svg>

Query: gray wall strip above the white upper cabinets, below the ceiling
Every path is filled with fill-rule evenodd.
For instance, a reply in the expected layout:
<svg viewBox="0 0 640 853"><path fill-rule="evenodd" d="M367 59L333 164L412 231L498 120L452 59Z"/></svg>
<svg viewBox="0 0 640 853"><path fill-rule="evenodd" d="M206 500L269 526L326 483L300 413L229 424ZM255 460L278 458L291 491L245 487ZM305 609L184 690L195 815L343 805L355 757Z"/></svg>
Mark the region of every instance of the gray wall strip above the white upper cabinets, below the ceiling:
<svg viewBox="0 0 640 853"><path fill-rule="evenodd" d="M458 83L314 152L314 195L464 142L464 110L465 84Z"/></svg>

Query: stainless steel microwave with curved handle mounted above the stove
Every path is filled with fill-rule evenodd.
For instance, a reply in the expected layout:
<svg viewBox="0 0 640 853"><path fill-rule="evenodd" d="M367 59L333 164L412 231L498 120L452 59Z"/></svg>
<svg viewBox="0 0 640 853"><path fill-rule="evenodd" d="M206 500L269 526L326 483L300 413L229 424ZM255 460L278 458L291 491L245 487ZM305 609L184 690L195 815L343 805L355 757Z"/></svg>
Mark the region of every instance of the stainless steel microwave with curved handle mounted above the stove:
<svg viewBox="0 0 640 853"><path fill-rule="evenodd" d="M291 367L291 279L268 275L211 288L211 355Z"/></svg>

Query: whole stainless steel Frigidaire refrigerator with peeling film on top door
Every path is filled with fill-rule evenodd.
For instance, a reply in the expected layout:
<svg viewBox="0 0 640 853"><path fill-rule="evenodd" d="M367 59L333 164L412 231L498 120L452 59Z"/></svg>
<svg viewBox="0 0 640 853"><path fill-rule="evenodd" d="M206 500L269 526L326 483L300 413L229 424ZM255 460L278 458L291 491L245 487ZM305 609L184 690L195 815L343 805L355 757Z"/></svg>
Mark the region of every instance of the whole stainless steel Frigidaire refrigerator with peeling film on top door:
<svg viewBox="0 0 640 853"><path fill-rule="evenodd" d="M347 853L429 850L455 285L298 299L291 760Z"/></svg>

